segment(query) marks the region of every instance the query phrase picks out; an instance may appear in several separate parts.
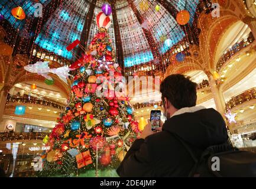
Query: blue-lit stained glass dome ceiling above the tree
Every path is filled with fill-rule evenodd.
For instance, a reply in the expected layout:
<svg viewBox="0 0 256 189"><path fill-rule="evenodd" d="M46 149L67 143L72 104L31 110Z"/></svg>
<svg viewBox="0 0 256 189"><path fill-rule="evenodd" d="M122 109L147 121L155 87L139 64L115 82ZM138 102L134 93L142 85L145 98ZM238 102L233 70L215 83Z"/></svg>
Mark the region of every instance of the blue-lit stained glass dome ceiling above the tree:
<svg viewBox="0 0 256 189"><path fill-rule="evenodd" d="M48 5L51 1L55 0L40 0L43 6ZM160 56L171 48L173 45L179 43L184 37L186 32L176 22L176 18L161 5L163 0L147 0L149 8L147 11L143 11L140 8L142 0L116 0L109 1L109 3L115 2L113 6L116 9L117 21L113 20L110 16L112 25L109 28L109 34L112 39L114 48L116 49L116 39L118 34L115 34L114 22L118 24L119 34L122 45L122 55L124 57L124 66L134 66L136 64L147 63L154 60L156 57L152 52L152 43L157 47L157 51ZM145 0L144 0L145 1ZM66 50L66 46L72 43L72 41L81 40L82 35L87 35L87 43L90 44L93 36L97 31L96 15L101 12L101 6L106 1L97 0L95 6L93 6L92 20L88 22L88 12L90 6L95 0L66 0L62 1L59 7L54 9L53 14L46 23L41 27L41 32L35 39L35 44L48 51L59 54L69 60L75 60L73 54L77 52L74 49L73 53ZM190 12L189 25L192 25L197 4L199 0L166 0L168 5L173 6L176 11L186 9ZM22 30L26 27L27 21L16 20L11 15L11 9L16 6L22 6L27 18L32 19L35 8L33 7L35 1L27 0L1 0L0 2L0 14L4 15L11 25L15 28ZM160 5L160 10L155 11L155 6ZM132 8L135 7L135 8ZM90 24L89 24L90 23ZM144 29L143 29L144 28ZM145 34L145 29L150 33L151 38ZM22 33L21 33L22 35ZM167 37L171 40L170 46L164 45L161 37ZM118 53L116 53L118 55Z"/></svg>

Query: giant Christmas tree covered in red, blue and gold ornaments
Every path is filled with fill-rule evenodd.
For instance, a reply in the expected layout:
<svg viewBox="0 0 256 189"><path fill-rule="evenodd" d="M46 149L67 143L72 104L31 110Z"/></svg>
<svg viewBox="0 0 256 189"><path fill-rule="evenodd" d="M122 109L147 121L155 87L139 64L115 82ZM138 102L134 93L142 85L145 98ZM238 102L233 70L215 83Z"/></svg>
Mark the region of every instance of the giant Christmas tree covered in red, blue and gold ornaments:
<svg viewBox="0 0 256 189"><path fill-rule="evenodd" d="M75 70L72 92L66 111L44 138L50 149L42 155L40 176L111 176L109 170L115 171L139 133L129 99L120 90L125 81L106 29L110 19L101 12L97 22L89 49L70 66Z"/></svg>

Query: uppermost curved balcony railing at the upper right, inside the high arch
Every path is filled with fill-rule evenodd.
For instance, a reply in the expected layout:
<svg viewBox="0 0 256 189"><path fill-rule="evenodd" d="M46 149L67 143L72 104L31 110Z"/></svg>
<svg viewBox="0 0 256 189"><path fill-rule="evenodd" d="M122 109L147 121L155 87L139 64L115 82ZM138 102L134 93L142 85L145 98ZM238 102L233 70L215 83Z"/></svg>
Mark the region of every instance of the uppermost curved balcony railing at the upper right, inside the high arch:
<svg viewBox="0 0 256 189"><path fill-rule="evenodd" d="M219 58L219 61L216 65L216 71L219 71L225 61L229 60L231 57L233 57L238 51L240 51L242 48L247 47L250 43L252 43L255 40L254 36L252 35L252 32L249 33L245 38L241 39L237 43L235 43L231 48L229 48L228 51L226 51L225 54L222 55L221 58Z"/></svg>

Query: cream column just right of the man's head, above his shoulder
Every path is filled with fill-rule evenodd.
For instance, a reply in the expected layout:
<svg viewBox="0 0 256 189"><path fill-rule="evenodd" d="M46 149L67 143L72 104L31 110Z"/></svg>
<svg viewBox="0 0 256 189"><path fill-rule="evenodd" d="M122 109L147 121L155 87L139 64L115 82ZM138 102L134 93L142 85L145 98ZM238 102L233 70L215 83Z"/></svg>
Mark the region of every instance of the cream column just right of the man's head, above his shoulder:
<svg viewBox="0 0 256 189"><path fill-rule="evenodd" d="M213 99L216 105L216 109L219 113L221 113L221 115L223 116L223 118L225 117L225 99L222 93L222 89L221 86L219 84L216 84L215 79L213 79L212 74L210 74L208 76L209 78L209 84L211 86L212 89L212 93L213 93Z"/></svg>

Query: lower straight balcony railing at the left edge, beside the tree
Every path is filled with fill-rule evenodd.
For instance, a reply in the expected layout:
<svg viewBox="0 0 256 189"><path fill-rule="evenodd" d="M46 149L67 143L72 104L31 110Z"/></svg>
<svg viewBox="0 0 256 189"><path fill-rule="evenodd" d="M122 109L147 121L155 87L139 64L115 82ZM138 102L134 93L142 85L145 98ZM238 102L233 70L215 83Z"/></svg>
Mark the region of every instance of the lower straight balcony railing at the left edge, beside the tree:
<svg viewBox="0 0 256 189"><path fill-rule="evenodd" d="M46 132L3 132L0 133L0 141L20 141L20 140L43 140Z"/></svg>

